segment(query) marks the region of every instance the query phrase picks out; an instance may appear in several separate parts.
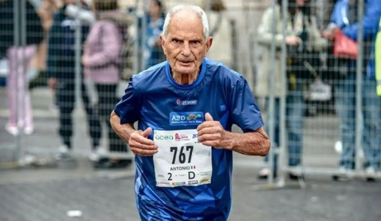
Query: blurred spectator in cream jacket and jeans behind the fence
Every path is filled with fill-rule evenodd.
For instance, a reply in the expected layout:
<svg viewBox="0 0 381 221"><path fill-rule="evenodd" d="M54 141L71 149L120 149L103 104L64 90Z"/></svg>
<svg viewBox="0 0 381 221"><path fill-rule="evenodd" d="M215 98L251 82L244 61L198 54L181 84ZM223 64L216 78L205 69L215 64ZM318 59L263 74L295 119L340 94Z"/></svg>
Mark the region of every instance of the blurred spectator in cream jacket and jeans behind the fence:
<svg viewBox="0 0 381 221"><path fill-rule="evenodd" d="M301 164L301 151L303 142L303 117L304 117L304 97L303 84L311 78L306 68L303 68L303 59L313 56L315 52L322 50L326 46L326 41L320 37L317 28L316 17L312 14L311 2L308 0L289 0L287 17L286 36L283 36L282 23L282 0L278 0L275 8L272 6L264 12L261 23L258 27L258 43L264 46L261 57L261 66L258 70L256 84L256 95L268 97L269 90L275 93L274 107L274 146L280 143L280 97L283 95L282 78L287 82L287 132L288 132L288 165L295 167ZM272 19L275 18L275 33L272 32ZM275 36L274 36L275 35ZM275 39L275 42L273 41ZM287 73L281 72L280 48L285 40L288 46ZM276 46L275 64L271 58L271 45ZM292 54L293 53L293 54ZM295 53L297 54L295 56ZM292 54L292 56L291 56ZM269 88L271 65L275 65L275 87ZM271 114L271 113L269 113ZM269 119L269 116L267 116ZM267 127L268 128L268 127ZM265 158L268 161L268 156ZM274 159L274 175L276 175L277 156ZM259 172L259 178L267 178L271 171L267 168ZM291 179L298 176L289 174Z"/></svg>

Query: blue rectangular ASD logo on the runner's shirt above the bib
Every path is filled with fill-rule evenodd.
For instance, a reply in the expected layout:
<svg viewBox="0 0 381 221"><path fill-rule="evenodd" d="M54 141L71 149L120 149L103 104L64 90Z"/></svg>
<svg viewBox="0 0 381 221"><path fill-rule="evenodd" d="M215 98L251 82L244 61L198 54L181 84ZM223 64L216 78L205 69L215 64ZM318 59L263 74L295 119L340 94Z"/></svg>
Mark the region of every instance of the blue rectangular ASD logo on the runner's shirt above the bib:
<svg viewBox="0 0 381 221"><path fill-rule="evenodd" d="M171 126L199 125L203 120L203 112L171 112L169 115Z"/></svg>

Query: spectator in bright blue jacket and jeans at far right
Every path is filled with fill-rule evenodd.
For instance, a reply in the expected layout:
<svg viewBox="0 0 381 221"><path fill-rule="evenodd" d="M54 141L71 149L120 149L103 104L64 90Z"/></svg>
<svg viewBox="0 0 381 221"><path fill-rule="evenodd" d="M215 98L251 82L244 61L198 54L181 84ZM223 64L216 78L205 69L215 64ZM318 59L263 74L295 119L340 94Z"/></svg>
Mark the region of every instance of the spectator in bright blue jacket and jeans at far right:
<svg viewBox="0 0 381 221"><path fill-rule="evenodd" d="M374 44L381 15L379 0L364 1L363 28L363 75L362 114L364 120L363 149L367 159L368 180L380 169L381 145L381 97L376 94ZM358 0L339 0L333 9L331 24L323 36L333 40L336 30L341 29L347 37L359 38ZM343 151L340 157L341 170L355 168L355 105L356 105L356 60L339 62L342 79L336 85L336 108L340 120Z"/></svg>

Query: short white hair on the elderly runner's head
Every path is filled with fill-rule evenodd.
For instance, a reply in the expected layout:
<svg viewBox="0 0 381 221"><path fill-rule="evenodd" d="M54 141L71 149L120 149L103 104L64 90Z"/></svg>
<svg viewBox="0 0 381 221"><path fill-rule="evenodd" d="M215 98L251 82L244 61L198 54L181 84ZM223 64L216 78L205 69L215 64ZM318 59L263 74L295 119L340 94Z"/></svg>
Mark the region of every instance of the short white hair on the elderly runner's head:
<svg viewBox="0 0 381 221"><path fill-rule="evenodd" d="M195 15L197 15L202 22L202 27L203 27L203 34L205 38L209 37L209 23L208 23L208 17L207 14L205 13L202 8L196 5L176 5L171 8L171 10L168 11L165 17L164 25L163 25L163 35L166 37L168 33L168 25L169 22L171 21L172 17L180 12L180 11L192 11Z"/></svg>

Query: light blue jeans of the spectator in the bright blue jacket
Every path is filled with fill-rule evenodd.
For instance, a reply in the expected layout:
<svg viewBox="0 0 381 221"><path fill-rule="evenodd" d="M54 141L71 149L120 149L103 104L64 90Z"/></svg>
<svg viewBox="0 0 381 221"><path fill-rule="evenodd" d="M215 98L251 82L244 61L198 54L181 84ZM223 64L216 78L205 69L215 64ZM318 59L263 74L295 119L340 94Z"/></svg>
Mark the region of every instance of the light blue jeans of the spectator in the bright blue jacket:
<svg viewBox="0 0 381 221"><path fill-rule="evenodd" d="M363 151L367 167L380 168L381 148L381 97L376 94L376 81L362 77ZM356 125L356 75L351 74L336 86L336 110L339 116L340 137L343 152L340 166L355 168Z"/></svg>

